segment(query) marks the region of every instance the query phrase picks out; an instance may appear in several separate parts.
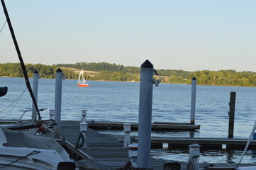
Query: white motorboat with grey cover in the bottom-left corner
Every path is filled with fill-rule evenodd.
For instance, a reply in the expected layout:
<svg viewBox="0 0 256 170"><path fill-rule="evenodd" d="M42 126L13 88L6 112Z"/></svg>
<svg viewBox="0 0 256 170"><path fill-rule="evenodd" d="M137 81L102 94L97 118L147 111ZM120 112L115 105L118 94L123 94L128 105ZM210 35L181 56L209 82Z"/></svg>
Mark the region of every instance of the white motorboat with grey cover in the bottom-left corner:
<svg viewBox="0 0 256 170"><path fill-rule="evenodd" d="M71 162L69 154L52 137L26 135L2 127L0 153L0 169L4 170L55 170L60 162Z"/></svg>

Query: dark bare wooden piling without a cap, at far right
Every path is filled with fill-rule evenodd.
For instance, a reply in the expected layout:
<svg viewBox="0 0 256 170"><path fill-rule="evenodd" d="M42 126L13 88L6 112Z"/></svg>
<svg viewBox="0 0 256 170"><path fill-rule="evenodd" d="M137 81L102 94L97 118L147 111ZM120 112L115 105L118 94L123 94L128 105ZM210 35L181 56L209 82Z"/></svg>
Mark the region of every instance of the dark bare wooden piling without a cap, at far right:
<svg viewBox="0 0 256 170"><path fill-rule="evenodd" d="M234 137L234 121L235 121L235 92L230 92L229 104L229 123L228 123L228 138Z"/></svg>

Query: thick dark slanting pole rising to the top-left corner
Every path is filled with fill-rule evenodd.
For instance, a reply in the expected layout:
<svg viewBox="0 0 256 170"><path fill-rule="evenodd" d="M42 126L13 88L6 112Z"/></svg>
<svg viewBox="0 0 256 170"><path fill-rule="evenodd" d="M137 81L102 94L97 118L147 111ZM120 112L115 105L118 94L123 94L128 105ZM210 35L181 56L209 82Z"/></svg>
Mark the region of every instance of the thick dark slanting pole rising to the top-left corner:
<svg viewBox="0 0 256 170"><path fill-rule="evenodd" d="M24 64L23 59L22 59L22 56L21 56L21 51L20 51L20 49L19 49L19 47L18 47L18 42L17 42L17 40L16 40L13 27L11 26L11 20L10 20L10 18L9 18L9 14L8 14L6 5L4 4L4 0L1 0L1 4L2 4L2 6L3 6L3 8L4 8L4 14L5 14L5 16L6 16L6 21L7 21L7 23L8 23L9 30L10 30L10 32L11 32L11 37L13 38L13 43L14 43L14 45L15 45L15 47L16 47L16 52L17 52L17 54L18 54L18 59L19 59L20 62L21 62L21 68L22 68L22 70L23 70L23 74L24 74L24 78L25 78L25 80L26 80L26 85L27 85L27 87L28 87L28 91L29 91L30 96L31 96L31 98L32 98L32 101L33 101L33 103L34 103L35 109L36 109L36 111L37 111L37 113L38 113L38 119L41 120L42 118L41 118L41 116L40 116L40 111L39 111L39 109L38 109L38 104L37 104L36 101L35 101L35 96L34 96L34 94L33 94L32 88L31 88L30 83L29 83L28 74L27 74L27 72L26 72L26 67L25 67L25 64Z"/></svg>

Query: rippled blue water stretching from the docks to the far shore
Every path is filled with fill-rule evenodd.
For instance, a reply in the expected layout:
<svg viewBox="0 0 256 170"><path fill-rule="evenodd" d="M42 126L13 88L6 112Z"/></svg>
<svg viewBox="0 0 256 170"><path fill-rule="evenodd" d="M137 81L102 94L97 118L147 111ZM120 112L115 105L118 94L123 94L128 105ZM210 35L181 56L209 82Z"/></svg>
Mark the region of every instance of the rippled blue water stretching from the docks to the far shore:
<svg viewBox="0 0 256 170"><path fill-rule="evenodd" d="M30 81L32 81L30 79ZM77 80L62 81L62 120L80 120L87 110L87 120L138 122L139 83L88 81L89 88L79 88ZM9 91L0 100L0 118L19 118L31 109L28 90L22 78L0 77L0 86ZM196 124L201 125L194 137L228 136L228 102L230 91L236 92L234 137L247 138L256 119L256 88L233 86L196 86ZM39 79L38 107L54 109L55 79ZM187 84L160 84L153 89L152 122L189 123L191 86ZM10 106L13 103L12 106ZM9 108L7 108L9 106ZM48 110L41 112L48 118ZM30 118L28 112L25 119ZM116 132L120 133L120 132ZM136 135L133 132L132 135ZM154 132L152 136L189 137L191 132ZM202 151L202 162L238 162L242 151ZM152 150L152 156L164 159L187 160L182 150ZM256 162L249 151L243 162Z"/></svg>

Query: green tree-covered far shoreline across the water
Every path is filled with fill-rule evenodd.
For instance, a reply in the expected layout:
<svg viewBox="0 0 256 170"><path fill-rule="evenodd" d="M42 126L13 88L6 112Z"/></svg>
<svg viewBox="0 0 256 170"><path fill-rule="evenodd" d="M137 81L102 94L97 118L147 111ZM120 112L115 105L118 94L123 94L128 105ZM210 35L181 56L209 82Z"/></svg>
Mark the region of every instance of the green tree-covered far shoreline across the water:
<svg viewBox="0 0 256 170"><path fill-rule="evenodd" d="M66 79L78 79L81 69L84 70L84 78L98 81L140 81L140 67L125 67L118 64L106 62L87 63L78 62L75 64L26 64L28 77L33 77L33 72L38 71L39 76L44 79L54 79L55 71L61 68ZM202 70L188 72L182 69L157 69L160 76L155 79L162 79L162 83L170 84L191 84L191 78L196 77L199 85L213 86L256 86L256 72L235 72L235 70L210 71ZM0 77L23 77L19 63L0 64Z"/></svg>

